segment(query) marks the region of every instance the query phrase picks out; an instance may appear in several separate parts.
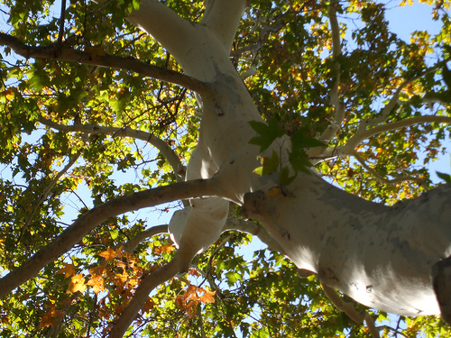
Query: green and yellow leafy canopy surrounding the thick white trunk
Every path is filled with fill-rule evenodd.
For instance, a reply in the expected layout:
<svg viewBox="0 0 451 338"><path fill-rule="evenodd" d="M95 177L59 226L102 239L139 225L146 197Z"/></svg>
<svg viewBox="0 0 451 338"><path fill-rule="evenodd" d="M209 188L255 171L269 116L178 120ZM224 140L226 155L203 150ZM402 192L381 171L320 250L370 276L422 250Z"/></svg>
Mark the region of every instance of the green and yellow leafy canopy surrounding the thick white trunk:
<svg viewBox="0 0 451 338"><path fill-rule="evenodd" d="M214 195L205 180L185 181L207 84L127 20L140 1L0 3L0 274L50 252L0 300L0 336L104 336L146 276L172 269L161 214ZM267 122L250 123L250 143L265 151L288 135L295 175L314 169L387 206L435 187L428 164L446 153L451 123L451 2L420 3L440 30L406 41L386 14L410 0L251 1L229 56ZM161 4L192 23L206 11L200 0ZM281 186L294 178L276 151L259 160L255 172L278 170ZM240 206L223 230L188 272L154 281L126 334L451 335L439 316L388 323L361 305L375 325L355 323ZM268 249L250 257L253 236Z"/></svg>

